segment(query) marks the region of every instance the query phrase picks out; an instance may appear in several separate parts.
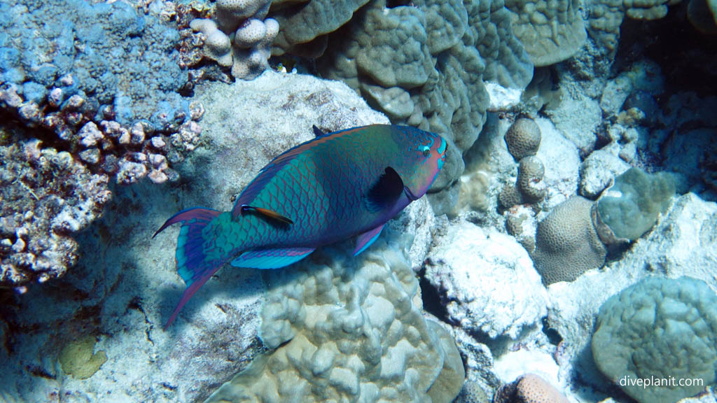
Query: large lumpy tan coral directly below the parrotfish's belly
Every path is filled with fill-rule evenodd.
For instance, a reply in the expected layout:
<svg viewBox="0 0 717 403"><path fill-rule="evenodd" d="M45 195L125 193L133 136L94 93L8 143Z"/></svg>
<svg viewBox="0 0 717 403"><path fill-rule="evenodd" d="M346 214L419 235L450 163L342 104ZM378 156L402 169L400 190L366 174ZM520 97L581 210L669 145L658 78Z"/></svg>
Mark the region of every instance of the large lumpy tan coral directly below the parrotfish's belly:
<svg viewBox="0 0 717 403"><path fill-rule="evenodd" d="M405 254L381 243L267 272L260 336L275 351L208 402L452 402L465 378L455 342L414 305Z"/></svg>

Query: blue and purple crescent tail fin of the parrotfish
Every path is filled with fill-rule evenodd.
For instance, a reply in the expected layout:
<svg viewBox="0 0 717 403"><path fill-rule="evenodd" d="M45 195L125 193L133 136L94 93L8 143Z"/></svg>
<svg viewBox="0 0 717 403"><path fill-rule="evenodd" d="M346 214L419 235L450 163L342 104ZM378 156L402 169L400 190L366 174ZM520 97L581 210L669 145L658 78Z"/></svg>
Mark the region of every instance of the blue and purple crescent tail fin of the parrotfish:
<svg viewBox="0 0 717 403"><path fill-rule="evenodd" d="M172 316L169 317L169 320L164 325L165 330L174 322L181 308L196 293L196 290L199 290L206 283L206 280L209 280L219 270L219 267L224 264L224 260L206 260L204 237L201 234L202 229L221 213L217 210L201 208L182 210L168 219L152 236L156 237L166 227L181 222L175 257L177 272L186 283L186 290L181 295L179 304L174 308Z"/></svg>

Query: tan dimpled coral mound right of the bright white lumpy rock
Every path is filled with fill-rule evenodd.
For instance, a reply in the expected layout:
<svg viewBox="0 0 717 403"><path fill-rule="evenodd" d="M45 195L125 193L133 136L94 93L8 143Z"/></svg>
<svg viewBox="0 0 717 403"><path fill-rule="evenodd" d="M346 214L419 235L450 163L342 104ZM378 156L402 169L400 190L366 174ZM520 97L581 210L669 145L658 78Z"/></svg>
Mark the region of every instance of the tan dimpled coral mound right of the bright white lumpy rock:
<svg viewBox="0 0 717 403"><path fill-rule="evenodd" d="M592 201L572 196L538 223L531 257L546 285L573 281L604 265L607 250L592 223L592 207Z"/></svg>

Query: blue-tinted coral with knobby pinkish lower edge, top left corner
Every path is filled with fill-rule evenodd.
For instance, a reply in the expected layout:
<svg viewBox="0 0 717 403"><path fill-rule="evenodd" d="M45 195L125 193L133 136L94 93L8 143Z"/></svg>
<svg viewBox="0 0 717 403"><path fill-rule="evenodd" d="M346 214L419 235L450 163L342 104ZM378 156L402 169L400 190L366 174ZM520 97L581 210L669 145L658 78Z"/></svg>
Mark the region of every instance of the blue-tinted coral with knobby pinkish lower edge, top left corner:
<svg viewBox="0 0 717 403"><path fill-rule="evenodd" d="M203 108L179 94L188 73L176 22L123 1L0 8L11 22L0 41L1 108L119 183L178 178L169 166L199 143Z"/></svg>

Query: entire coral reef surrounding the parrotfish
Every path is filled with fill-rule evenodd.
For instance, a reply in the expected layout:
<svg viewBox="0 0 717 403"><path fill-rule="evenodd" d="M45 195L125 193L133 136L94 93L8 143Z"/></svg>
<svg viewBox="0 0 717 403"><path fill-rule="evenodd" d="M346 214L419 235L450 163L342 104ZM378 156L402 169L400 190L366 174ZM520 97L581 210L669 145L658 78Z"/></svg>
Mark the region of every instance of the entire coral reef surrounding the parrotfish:
<svg viewBox="0 0 717 403"><path fill-rule="evenodd" d="M0 400L607 403L627 370L713 383L716 7L677 3L0 1ZM446 136L450 161L368 254L224 267L161 329L184 288L176 229L149 241L163 219L229 209L312 125L389 119Z"/></svg>

